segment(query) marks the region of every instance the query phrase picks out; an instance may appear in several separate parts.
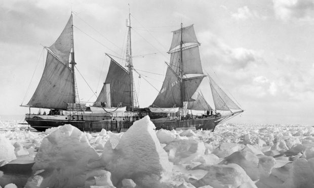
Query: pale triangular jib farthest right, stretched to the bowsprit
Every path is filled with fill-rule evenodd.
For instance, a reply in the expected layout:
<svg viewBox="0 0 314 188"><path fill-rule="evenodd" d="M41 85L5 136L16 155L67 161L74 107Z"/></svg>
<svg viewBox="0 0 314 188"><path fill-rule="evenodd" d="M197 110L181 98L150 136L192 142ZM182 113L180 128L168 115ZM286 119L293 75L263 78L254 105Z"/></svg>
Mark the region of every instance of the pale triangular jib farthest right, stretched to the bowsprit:
<svg viewBox="0 0 314 188"><path fill-rule="evenodd" d="M230 109L241 110L241 108L227 96L227 94L219 87L219 85L210 76L209 79L216 110L224 111L230 111Z"/></svg>

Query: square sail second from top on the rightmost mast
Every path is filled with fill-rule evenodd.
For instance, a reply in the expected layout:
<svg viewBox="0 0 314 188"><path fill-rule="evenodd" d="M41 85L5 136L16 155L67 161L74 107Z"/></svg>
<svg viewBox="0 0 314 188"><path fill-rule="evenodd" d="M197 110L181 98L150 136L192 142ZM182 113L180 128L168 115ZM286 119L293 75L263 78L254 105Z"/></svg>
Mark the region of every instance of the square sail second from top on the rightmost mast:
<svg viewBox="0 0 314 188"><path fill-rule="evenodd" d="M181 52L171 53L170 67L179 74ZM199 46L182 51L183 74L203 74Z"/></svg>

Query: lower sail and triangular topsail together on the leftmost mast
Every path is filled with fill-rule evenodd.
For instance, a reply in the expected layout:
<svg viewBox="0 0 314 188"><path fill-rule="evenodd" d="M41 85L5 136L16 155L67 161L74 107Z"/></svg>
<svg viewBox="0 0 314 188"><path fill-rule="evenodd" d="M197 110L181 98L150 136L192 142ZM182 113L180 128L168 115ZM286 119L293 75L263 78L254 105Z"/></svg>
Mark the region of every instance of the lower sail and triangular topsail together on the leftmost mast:
<svg viewBox="0 0 314 188"><path fill-rule="evenodd" d="M73 75L69 68L72 48L72 15L58 39L48 48L45 69L27 105L35 108L66 109L74 103Z"/></svg>

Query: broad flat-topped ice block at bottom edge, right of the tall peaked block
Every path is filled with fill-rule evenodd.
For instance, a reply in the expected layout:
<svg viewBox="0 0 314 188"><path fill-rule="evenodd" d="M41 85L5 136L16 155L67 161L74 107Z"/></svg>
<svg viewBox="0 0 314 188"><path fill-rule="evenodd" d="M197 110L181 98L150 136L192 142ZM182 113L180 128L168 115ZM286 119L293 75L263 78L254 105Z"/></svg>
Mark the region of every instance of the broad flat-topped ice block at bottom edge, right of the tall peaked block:
<svg viewBox="0 0 314 188"><path fill-rule="evenodd" d="M237 164L228 165L199 165L193 170L207 170L208 173L199 180L191 180L195 187L210 185L213 187L257 187L246 172Z"/></svg>

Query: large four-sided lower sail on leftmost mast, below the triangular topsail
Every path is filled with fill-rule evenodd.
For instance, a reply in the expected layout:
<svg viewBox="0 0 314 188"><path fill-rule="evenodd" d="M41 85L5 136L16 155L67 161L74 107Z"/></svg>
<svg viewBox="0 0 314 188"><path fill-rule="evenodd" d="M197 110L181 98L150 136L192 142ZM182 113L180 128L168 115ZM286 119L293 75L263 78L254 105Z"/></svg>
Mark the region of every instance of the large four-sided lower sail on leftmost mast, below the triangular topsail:
<svg viewBox="0 0 314 188"><path fill-rule="evenodd" d="M65 110L73 101L72 72L48 51L43 76L27 105Z"/></svg>

